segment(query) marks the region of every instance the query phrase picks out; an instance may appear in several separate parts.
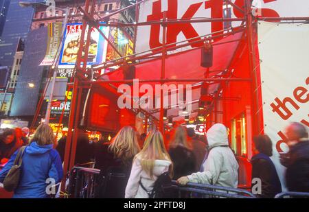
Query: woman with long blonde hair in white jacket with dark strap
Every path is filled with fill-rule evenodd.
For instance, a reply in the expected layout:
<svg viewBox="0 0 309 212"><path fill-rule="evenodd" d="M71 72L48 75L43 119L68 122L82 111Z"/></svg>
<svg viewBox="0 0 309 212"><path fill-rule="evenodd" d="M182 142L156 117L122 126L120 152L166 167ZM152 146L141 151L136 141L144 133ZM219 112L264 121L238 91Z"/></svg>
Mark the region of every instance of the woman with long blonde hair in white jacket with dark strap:
<svg viewBox="0 0 309 212"><path fill-rule="evenodd" d="M159 131L150 132L143 150L135 156L126 185L126 198L149 198L156 180L166 172L172 175L172 162L165 150L163 136Z"/></svg>

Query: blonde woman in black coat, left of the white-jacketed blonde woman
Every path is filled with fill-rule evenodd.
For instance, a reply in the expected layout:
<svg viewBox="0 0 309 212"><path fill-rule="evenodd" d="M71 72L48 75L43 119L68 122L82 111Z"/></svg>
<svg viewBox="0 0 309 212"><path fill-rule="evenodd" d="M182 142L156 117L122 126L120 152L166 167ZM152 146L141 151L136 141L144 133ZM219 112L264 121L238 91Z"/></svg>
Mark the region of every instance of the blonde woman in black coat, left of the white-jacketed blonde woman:
<svg viewBox="0 0 309 212"><path fill-rule="evenodd" d="M97 198L124 198L124 189L130 176L133 158L140 151L137 133L125 126L116 134L110 143L102 143L96 150L95 168L100 169L100 186ZM116 181L111 176L122 176ZM109 182L108 182L109 180Z"/></svg>

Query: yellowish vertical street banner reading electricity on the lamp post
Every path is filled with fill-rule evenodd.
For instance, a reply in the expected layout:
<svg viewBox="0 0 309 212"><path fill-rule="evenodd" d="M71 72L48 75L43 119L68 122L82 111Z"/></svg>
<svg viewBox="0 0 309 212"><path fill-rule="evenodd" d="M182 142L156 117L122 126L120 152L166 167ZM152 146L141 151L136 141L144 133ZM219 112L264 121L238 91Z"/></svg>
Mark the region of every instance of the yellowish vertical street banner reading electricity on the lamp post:
<svg viewBox="0 0 309 212"><path fill-rule="evenodd" d="M50 66L54 63L61 41L62 23L49 23L47 26L46 54L40 66Z"/></svg>

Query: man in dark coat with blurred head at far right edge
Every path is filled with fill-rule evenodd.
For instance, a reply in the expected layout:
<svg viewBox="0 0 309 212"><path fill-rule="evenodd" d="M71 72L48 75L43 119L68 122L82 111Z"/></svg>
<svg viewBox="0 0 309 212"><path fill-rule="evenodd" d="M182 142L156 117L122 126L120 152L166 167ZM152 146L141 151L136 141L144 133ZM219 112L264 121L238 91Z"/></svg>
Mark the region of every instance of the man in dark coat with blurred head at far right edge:
<svg viewBox="0 0 309 212"><path fill-rule="evenodd" d="M286 167L286 185L289 191L309 192L309 140L306 126L291 123L286 128L290 151L282 155Z"/></svg>

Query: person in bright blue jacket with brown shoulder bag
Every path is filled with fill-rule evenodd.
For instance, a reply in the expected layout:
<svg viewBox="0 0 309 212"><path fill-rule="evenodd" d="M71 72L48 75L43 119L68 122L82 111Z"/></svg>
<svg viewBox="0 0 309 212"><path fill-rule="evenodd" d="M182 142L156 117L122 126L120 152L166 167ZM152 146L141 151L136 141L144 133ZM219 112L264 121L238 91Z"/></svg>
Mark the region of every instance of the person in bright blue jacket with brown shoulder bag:
<svg viewBox="0 0 309 212"><path fill-rule="evenodd" d="M60 182L63 176L60 156L53 148L54 141L54 133L50 126L38 126L30 145L23 153L21 176L13 198L49 198L53 194L52 185ZM3 182L10 171L17 153L18 150L1 170L0 182Z"/></svg>

